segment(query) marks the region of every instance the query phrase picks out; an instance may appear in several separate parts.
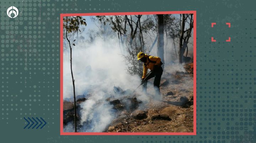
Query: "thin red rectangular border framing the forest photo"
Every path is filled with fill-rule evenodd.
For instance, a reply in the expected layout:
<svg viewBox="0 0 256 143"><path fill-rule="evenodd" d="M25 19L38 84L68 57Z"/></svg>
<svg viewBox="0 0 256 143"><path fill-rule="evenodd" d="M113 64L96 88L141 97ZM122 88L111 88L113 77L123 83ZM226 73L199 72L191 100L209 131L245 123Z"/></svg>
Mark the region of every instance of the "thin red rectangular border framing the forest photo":
<svg viewBox="0 0 256 143"><path fill-rule="evenodd" d="M194 15L193 31L193 132L63 132L63 17L65 16L108 16L108 15ZM161 12L111 12L111 13L62 13L60 14L60 135L196 135L196 11Z"/></svg>

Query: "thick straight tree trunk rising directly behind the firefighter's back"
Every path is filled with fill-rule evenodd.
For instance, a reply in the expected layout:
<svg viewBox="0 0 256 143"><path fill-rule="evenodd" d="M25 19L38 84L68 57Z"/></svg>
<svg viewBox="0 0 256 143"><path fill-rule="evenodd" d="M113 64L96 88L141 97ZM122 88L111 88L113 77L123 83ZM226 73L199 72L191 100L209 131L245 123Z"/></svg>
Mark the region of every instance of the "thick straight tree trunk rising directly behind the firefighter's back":
<svg viewBox="0 0 256 143"><path fill-rule="evenodd" d="M158 50L157 54L164 63L164 15L158 16Z"/></svg>

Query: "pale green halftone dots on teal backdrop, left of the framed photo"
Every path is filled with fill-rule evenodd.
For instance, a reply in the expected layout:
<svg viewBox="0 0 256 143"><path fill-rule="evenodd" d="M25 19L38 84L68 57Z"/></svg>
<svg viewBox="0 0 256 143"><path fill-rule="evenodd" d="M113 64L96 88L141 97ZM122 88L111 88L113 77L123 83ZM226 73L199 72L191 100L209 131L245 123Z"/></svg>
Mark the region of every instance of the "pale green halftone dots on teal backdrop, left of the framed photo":
<svg viewBox="0 0 256 143"><path fill-rule="evenodd" d="M16 5L20 11L19 16L14 18L16 21L1 15L1 19L6 20L1 22L1 29L5 30L5 37L1 35L1 60L4 61L2 65L6 65L2 66L6 67L2 68L2 89L11 91L2 90L2 102L16 106L2 108L4 116L1 119L9 124L8 116L13 115L25 125L23 117L40 116L48 122L45 127L48 129L45 130L49 132L50 125L54 124L53 115L59 115L59 107L54 106L59 104L59 89L54 88L56 81L53 80L59 79L59 50L54 49L58 47L59 31L51 30L59 27L59 19L55 18L49 24L43 21L41 13L49 15L52 11L38 11L41 1L22 1ZM6 11L6 7L1 8ZM8 84L11 86L4 86ZM14 95L16 98L12 98ZM2 107L8 106L2 104Z"/></svg>

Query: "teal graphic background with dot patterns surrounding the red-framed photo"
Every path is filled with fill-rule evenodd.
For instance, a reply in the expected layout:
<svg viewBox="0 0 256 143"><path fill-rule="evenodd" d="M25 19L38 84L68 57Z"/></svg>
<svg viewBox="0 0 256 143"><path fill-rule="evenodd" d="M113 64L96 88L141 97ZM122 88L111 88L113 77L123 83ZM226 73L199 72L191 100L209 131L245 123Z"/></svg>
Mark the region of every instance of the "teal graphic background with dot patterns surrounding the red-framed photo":
<svg viewBox="0 0 256 143"><path fill-rule="evenodd" d="M1 142L256 142L255 1L1 0ZM16 18L6 10L15 6ZM197 11L196 136L60 136L60 13ZM211 23L216 22L214 28ZM231 23L231 28L225 25ZM211 42L211 37L217 42ZM228 37L231 42L225 42ZM41 130L23 117L42 117Z"/></svg>

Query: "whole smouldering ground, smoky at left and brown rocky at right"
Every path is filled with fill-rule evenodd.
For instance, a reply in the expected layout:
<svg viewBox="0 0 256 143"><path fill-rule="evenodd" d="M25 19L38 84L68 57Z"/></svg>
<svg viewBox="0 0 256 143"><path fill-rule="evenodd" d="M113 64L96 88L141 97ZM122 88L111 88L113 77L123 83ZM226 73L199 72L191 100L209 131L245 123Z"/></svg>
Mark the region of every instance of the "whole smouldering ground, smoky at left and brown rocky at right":
<svg viewBox="0 0 256 143"><path fill-rule="evenodd" d="M78 96L78 132L193 132L192 67L192 63L180 69L177 65L165 66L161 99L154 97L154 78L148 82L146 95L140 88L132 94L133 89L114 86L112 92L92 91ZM72 98L63 102L63 124L64 132L74 131Z"/></svg>

